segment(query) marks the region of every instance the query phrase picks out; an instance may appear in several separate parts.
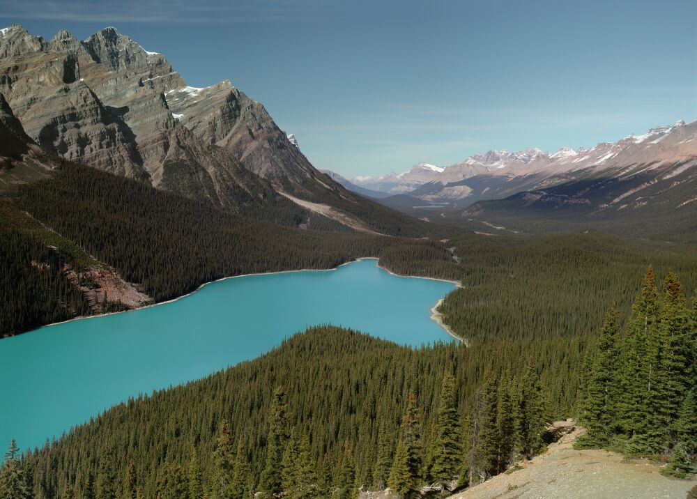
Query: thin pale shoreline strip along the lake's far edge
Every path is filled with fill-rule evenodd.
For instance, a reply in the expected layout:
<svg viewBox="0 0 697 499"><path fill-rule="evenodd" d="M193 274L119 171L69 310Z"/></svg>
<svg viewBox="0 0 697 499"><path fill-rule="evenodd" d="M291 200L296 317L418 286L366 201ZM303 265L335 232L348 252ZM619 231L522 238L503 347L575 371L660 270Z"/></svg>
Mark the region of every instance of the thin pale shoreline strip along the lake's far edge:
<svg viewBox="0 0 697 499"><path fill-rule="evenodd" d="M50 323L50 324L41 325L36 329L22 332L20 335L10 336L10 337L4 338L4 339L10 339L10 338L14 338L14 337L23 336L23 335L29 334L31 332L42 330L43 328L50 328L54 325L66 324L66 323L69 323L72 321L84 321L86 319L91 319L91 318L99 318L99 317L105 317L105 316L116 315L116 314L125 314L126 312L133 312L135 310L144 310L144 309L148 309L151 307L159 307L160 305L167 305L168 303L174 303L178 300L183 300L184 298L187 298L187 296L193 295L194 293L201 291L201 289L203 289L204 286L208 286L208 284L213 284L215 282L220 282L220 281L226 281L227 279L237 279L238 277L251 277L254 275L289 274L291 272L332 272L334 270L338 270L339 267L343 267L345 265L350 265L351 263L356 263L356 262L364 261L364 260L377 260L378 261L377 267L380 270L384 270L385 272L388 272L389 274L394 275L395 277L407 277L407 278L414 278L414 279L429 279L431 281L450 282L451 284L454 284L458 288L462 287L459 282L451 281L448 279L438 279L437 277L422 277L420 275L397 274L395 272L392 272L392 270L381 266L380 259L378 256L361 256L360 258L357 258L355 260L346 261L344 263L339 263L339 265L337 265L336 267L332 267L332 268L300 268L300 269L296 269L296 270L275 270L274 272L257 272L257 273L252 273L252 274L229 275L227 277L220 277L220 279L215 279L213 281L208 281L208 282L204 282L203 284L199 284L197 289L194 289L194 291L190 291L189 293L186 293L184 295L178 296L176 298L172 298L171 300L166 300L164 302L150 303L148 305L144 305L143 307L136 307L136 308L132 308L132 309L128 309L128 310L119 310L118 312L106 312L105 314L94 314L94 315L73 317L73 318L69 318L67 321L60 321L60 322L54 322L54 323ZM442 301L443 301L443 298L441 298L441 300L439 300L439 302L436 303L434 308L438 307L438 305L440 305ZM434 312L434 308L431 308L432 313ZM466 343L465 339L458 337L450 330L450 328L447 328L447 326L441 321L440 316L438 319L436 319L433 315L431 315L431 319L433 319L436 323L438 323L438 325L440 325L441 328L443 328L443 330L445 330L445 332L447 332L448 335L454 337L455 339L458 339L459 341L464 341L464 343Z"/></svg>

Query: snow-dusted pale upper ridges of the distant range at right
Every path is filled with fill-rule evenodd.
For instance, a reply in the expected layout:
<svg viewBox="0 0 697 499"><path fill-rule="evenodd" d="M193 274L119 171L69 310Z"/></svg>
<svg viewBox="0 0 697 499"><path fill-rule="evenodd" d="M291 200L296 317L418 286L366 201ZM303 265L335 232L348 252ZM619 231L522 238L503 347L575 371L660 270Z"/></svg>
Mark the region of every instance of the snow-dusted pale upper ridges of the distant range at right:
<svg viewBox="0 0 697 499"><path fill-rule="evenodd" d="M514 153L489 151L447 167L420 163L402 174L355 176L347 182L431 203L466 206L480 199L502 199L588 176L632 176L641 165L643 174L664 171L684 161L687 164L681 168L690 169L697 157L696 134L697 121L678 121L673 126L652 128L645 134L592 148L560 148L554 153L538 148Z"/></svg>

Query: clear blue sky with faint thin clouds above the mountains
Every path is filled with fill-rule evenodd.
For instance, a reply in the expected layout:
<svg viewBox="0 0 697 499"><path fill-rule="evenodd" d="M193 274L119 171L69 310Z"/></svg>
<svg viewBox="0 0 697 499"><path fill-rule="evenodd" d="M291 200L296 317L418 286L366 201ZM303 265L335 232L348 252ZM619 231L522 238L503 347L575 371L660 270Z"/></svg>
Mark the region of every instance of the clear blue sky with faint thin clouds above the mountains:
<svg viewBox="0 0 697 499"><path fill-rule="evenodd" d="M696 19L694 0L0 0L0 24L116 26L192 86L230 79L346 176L692 121Z"/></svg>

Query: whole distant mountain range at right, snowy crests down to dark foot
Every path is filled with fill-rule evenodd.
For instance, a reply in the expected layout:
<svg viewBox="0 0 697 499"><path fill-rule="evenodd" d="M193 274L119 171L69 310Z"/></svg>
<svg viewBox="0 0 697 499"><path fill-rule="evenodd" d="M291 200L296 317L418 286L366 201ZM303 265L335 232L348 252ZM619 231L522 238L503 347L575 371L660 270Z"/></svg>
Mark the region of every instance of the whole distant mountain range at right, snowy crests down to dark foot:
<svg viewBox="0 0 697 499"><path fill-rule="evenodd" d="M332 176L427 220L498 220L516 230L570 222L632 236L641 236L637 226L648 223L665 236L671 222L697 229L697 121L588 149L489 151L447 167L420 163L383 177Z"/></svg>

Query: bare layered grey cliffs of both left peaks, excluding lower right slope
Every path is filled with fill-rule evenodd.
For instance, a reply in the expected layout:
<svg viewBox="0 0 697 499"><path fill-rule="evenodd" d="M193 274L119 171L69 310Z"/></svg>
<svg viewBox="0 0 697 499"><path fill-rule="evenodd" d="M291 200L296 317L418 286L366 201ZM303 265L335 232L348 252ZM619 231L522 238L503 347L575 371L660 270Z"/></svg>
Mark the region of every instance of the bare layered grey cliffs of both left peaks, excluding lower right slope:
<svg viewBox="0 0 697 499"><path fill-rule="evenodd" d="M187 86L114 28L47 42L9 26L0 93L45 151L225 208L277 195L255 174L286 185L316 174L258 102L230 82Z"/></svg>

